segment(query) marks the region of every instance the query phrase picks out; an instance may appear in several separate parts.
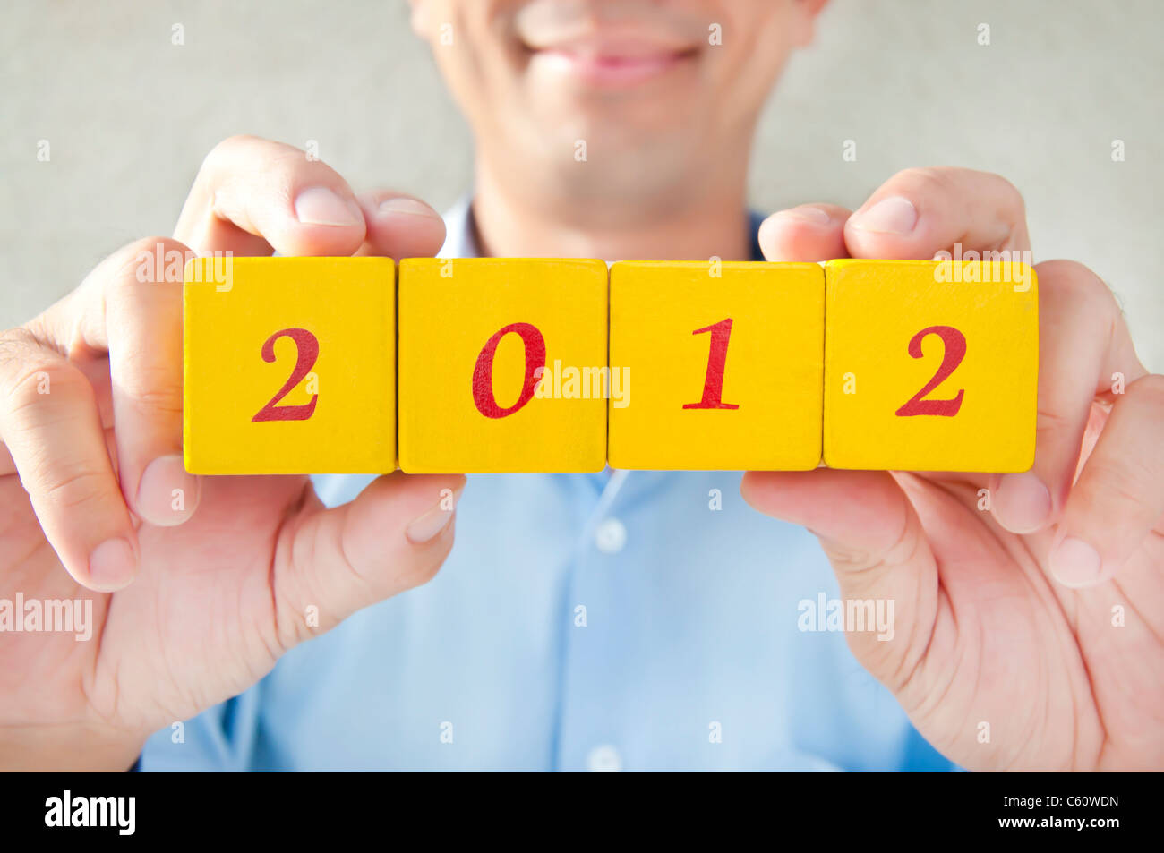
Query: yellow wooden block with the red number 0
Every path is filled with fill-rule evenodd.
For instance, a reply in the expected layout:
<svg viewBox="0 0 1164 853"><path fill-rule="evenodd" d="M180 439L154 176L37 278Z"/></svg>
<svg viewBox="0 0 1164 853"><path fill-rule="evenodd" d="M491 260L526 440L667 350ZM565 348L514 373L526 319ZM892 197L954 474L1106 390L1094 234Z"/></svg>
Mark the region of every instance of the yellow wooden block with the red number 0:
<svg viewBox="0 0 1164 853"><path fill-rule="evenodd" d="M403 470L605 467L604 262L407 258L399 312Z"/></svg>

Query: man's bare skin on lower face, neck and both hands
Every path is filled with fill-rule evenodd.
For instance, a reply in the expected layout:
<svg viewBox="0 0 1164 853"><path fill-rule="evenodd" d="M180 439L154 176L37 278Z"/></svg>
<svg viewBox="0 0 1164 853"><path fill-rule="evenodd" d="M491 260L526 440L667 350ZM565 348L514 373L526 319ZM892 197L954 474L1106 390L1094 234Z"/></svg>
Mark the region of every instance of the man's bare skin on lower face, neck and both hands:
<svg viewBox="0 0 1164 853"><path fill-rule="evenodd" d="M755 119L822 5L414 0L413 26L474 131L482 244L499 256L745 258ZM708 44L710 23L722 45ZM461 477L393 474L324 510L304 477L185 475L180 283L139 282L137 253L161 241L402 257L434 253L442 236L417 200L356 197L296 149L232 138L207 157L172 240L115 253L0 337L0 597L100 593L92 641L0 645L0 763L125 768L150 732L423 583L452 546L439 496ZM960 169L901 172L856 213L782 211L760 242L769 261L1030 248L1017 190ZM949 758L980 770L1159 769L1164 377L1136 358L1094 273L1069 261L1037 272L1032 471L750 472L743 492L819 538L844 597L895 600L895 639L851 634L850 646ZM49 394L36 393L43 375ZM128 550L98 549L107 540Z"/></svg>

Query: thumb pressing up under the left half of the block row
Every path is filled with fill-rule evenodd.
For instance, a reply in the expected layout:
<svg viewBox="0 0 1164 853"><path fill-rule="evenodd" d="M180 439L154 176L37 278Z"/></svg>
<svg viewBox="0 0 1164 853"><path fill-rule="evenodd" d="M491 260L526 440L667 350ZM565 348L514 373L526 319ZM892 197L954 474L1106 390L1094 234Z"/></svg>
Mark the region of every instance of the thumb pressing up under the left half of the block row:
<svg viewBox="0 0 1164 853"><path fill-rule="evenodd" d="M431 580L453 547L462 475L375 479L355 500L318 510L318 499L289 524L278 545L276 600L285 648L327 631L355 611ZM318 610L318 624L304 620Z"/></svg>

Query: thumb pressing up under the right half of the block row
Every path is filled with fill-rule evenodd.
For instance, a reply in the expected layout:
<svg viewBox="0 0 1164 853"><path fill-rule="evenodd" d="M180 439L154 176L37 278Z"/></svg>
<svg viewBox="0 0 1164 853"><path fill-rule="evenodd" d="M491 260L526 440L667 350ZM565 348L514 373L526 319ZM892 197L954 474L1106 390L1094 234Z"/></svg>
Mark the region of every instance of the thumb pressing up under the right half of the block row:
<svg viewBox="0 0 1164 853"><path fill-rule="evenodd" d="M840 585L845 613L883 613L888 626L846 619L849 646L897 690L925 652L938 606L934 553L906 492L887 471L748 471L740 493L766 516L807 527ZM870 610L872 602L873 610ZM864 625L861 623L864 621Z"/></svg>

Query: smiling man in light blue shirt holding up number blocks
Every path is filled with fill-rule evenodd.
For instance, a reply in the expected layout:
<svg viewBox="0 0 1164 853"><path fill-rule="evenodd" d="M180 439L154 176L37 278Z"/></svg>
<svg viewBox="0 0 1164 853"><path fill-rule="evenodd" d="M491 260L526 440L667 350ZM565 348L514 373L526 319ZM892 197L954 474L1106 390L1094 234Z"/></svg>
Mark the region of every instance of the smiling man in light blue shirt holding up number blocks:
<svg viewBox="0 0 1164 853"><path fill-rule="evenodd" d="M1015 189L957 169L753 230L757 115L822 5L414 0L476 142L471 207L447 236L418 200L357 196L296 149L239 137L210 154L163 248L1029 249ZM0 597L97 593L92 642L0 642L3 765L1164 766L1164 377L1085 268L1037 268L1031 471L752 472L753 510L723 472L187 475L180 284L135 275L157 242L3 336ZM894 603L892 638L849 638L872 675L839 634L799 628L821 595Z"/></svg>

